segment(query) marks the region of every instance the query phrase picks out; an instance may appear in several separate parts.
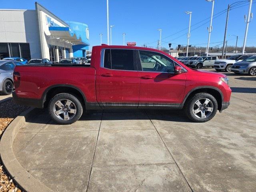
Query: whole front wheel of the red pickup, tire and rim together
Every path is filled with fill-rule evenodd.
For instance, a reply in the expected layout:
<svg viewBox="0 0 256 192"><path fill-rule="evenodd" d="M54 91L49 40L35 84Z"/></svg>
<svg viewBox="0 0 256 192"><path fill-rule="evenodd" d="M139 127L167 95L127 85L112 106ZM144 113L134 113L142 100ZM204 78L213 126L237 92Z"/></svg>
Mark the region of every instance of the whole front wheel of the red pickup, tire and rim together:
<svg viewBox="0 0 256 192"><path fill-rule="evenodd" d="M186 102L184 109L190 120L206 122L215 116L218 102L211 94L198 93Z"/></svg>

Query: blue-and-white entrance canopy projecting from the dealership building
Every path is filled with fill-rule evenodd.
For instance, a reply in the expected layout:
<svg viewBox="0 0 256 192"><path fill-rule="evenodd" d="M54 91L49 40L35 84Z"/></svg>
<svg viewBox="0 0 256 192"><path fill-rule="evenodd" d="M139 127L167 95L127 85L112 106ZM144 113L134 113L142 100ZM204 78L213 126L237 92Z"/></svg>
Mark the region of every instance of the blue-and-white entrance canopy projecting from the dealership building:
<svg viewBox="0 0 256 192"><path fill-rule="evenodd" d="M49 27L49 32L52 38L58 38L64 40L65 42L74 44L88 45L86 42L82 41L81 37L76 36L76 34L70 32L69 27Z"/></svg>

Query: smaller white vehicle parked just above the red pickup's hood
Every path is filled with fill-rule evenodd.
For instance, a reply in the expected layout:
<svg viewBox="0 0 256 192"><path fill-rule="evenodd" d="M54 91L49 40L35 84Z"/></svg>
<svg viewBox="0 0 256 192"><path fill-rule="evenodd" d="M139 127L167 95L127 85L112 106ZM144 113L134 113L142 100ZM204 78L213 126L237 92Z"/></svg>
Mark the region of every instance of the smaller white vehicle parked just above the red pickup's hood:
<svg viewBox="0 0 256 192"><path fill-rule="evenodd" d="M214 62L218 59L217 56L204 56L198 60L190 61L189 66L192 68L201 69L202 67L213 67Z"/></svg>

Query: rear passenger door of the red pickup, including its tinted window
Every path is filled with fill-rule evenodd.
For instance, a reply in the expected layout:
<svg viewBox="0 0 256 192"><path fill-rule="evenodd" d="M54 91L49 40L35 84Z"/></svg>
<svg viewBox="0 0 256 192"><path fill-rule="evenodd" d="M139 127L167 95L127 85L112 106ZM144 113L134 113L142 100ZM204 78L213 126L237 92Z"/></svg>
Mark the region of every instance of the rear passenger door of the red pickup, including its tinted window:
<svg viewBox="0 0 256 192"><path fill-rule="evenodd" d="M140 79L134 50L105 49L100 68L100 101L104 106L138 106ZM103 53L102 53L103 54Z"/></svg>

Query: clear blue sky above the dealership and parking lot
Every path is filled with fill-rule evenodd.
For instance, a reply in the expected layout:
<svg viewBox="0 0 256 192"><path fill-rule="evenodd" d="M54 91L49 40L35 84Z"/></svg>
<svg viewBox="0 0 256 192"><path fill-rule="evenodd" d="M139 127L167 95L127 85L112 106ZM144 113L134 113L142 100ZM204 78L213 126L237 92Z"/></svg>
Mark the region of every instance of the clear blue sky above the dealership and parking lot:
<svg viewBox="0 0 256 192"><path fill-rule="evenodd" d="M244 0L215 0L214 14L225 10L228 4L238 1ZM62 20L88 24L92 46L100 44L100 33L103 34L103 43L107 42L106 0L39 0L38 3ZM245 1L241 2L240 6L230 10L227 32L227 35L239 37L238 46L243 44L244 14L248 14L249 5ZM0 8L34 9L35 6L33 0L8 0L2 1ZM162 29L163 47L168 47L168 42L173 44L172 47L176 47L176 44L186 44L189 15L185 14L184 11L192 11L191 24L194 25L210 17L211 8L212 3L205 0L109 0L110 25L115 25L112 29L112 44L122 45L122 34L125 32L126 42L137 42L138 46L145 43L147 46L156 47L160 36L157 30L159 28ZM255 9L256 0L252 4L252 12L256 14ZM212 43L210 46L221 44L224 37L226 12L217 16L212 23ZM208 40L206 28L209 24L210 19L192 26L190 44L206 46ZM254 18L249 24L247 46L255 46L255 31L256 20ZM235 43L236 37L228 36L228 45L235 45Z"/></svg>

